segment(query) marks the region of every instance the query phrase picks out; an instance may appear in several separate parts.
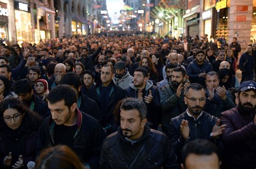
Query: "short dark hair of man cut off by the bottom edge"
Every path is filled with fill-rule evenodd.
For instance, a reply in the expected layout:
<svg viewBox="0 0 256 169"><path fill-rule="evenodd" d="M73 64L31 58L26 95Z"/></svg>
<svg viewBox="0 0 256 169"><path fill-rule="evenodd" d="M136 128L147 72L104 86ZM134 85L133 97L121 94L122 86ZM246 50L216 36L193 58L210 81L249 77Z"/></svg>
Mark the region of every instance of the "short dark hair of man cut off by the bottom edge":
<svg viewBox="0 0 256 169"><path fill-rule="evenodd" d="M185 144L181 150L181 163L185 166L186 158L189 154L195 155L212 155L216 153L220 161L220 152L218 147L211 141L196 139Z"/></svg>

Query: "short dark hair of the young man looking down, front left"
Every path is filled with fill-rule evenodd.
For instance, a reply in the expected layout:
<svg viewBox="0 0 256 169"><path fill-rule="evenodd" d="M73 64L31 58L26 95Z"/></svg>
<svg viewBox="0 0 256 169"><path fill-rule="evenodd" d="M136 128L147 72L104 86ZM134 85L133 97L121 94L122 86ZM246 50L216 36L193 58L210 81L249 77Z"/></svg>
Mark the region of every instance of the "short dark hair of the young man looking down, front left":
<svg viewBox="0 0 256 169"><path fill-rule="evenodd" d="M68 109L70 109L74 103L77 103L77 95L75 89L66 84L57 85L55 88L53 88L48 94L47 99L50 104L55 104L64 100Z"/></svg>

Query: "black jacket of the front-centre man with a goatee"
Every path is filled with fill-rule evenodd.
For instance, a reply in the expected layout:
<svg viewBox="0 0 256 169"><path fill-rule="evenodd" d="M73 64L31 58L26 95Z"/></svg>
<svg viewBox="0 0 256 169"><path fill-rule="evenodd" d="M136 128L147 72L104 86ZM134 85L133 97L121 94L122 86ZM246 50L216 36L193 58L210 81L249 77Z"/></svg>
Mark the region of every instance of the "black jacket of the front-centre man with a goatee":
<svg viewBox="0 0 256 169"><path fill-rule="evenodd" d="M117 132L109 135L102 146L100 166L104 169L128 168L138 153L139 156L131 168L178 168L168 137L147 126L135 143L125 139L120 127Z"/></svg>

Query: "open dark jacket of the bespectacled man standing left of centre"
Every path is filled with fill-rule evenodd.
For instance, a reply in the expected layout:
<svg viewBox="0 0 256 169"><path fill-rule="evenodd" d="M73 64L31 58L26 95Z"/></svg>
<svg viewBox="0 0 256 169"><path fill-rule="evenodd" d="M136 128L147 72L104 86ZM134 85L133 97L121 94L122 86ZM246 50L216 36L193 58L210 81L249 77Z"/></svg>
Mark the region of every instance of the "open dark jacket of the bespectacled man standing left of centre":
<svg viewBox="0 0 256 169"><path fill-rule="evenodd" d="M100 85L102 83L97 83L95 86L92 86L87 91L87 96L91 98L92 100L96 101L97 105L100 107L100 110L102 111L101 107L101 100L100 100ZM100 124L105 127L107 124L113 125L114 124L114 117L112 115L112 112L115 109L116 104L126 98L125 90L114 84L113 81L111 81L112 87L110 89L109 98L107 100L107 110L105 112L102 112L101 114L101 122Z"/></svg>

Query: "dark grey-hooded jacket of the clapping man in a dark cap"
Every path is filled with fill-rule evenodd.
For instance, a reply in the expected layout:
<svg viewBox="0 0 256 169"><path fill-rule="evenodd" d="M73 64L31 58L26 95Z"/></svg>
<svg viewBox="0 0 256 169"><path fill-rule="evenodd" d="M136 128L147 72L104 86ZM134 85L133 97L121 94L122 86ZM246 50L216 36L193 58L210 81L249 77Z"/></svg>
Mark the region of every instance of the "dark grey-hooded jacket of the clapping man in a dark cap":
<svg viewBox="0 0 256 169"><path fill-rule="evenodd" d="M144 97L149 95L149 90L153 96L152 101L148 104L145 103ZM129 98L137 98L138 89L134 86L134 82L131 81L130 87L126 89L126 95ZM152 128L156 129L157 125L160 124L162 110L160 106L160 95L157 86L154 86L151 80L146 81L145 89L142 90L143 102L147 106L147 121L152 123Z"/></svg>

